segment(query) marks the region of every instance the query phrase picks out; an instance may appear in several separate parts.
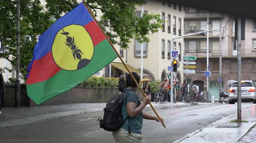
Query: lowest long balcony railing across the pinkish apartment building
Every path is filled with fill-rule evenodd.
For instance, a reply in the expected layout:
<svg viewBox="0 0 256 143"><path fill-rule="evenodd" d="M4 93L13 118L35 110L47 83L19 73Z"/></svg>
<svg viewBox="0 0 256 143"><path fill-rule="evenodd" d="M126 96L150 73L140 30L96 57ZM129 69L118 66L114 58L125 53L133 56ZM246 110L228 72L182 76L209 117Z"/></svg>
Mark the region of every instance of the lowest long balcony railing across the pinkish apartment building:
<svg viewBox="0 0 256 143"><path fill-rule="evenodd" d="M222 50L221 52L222 57L236 57L236 50ZM196 57L206 57L207 52L206 50L196 50L196 51L189 51L185 50L184 55L187 56L196 56ZM209 57L219 57L220 56L220 50L209 50ZM242 57L252 57L256 56L256 50L252 49L242 49Z"/></svg>

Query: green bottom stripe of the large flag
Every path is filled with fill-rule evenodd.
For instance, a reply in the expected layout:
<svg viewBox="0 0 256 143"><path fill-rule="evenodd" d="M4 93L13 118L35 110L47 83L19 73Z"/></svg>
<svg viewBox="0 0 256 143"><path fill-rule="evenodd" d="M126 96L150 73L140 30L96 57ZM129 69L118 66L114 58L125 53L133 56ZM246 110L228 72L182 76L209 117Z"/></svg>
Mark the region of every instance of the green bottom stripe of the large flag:
<svg viewBox="0 0 256 143"><path fill-rule="evenodd" d="M36 104L41 104L82 83L92 74L112 62L116 57L116 53L108 41L104 40L95 46L92 60L86 67L75 71L60 70L50 79L40 83L29 84L27 85L28 96Z"/></svg>

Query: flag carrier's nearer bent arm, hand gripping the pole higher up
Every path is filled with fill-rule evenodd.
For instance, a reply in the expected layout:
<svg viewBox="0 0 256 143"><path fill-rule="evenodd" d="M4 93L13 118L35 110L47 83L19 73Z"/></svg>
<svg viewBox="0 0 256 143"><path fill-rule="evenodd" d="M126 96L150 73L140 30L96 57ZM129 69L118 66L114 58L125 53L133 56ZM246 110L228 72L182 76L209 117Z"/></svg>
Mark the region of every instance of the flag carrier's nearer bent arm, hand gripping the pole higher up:
<svg viewBox="0 0 256 143"><path fill-rule="evenodd" d="M143 102L140 106L137 107L137 103L135 102L128 102L126 104L127 114L129 117L134 118L138 116L142 110L146 107L147 104L150 103L150 96L144 97Z"/></svg>

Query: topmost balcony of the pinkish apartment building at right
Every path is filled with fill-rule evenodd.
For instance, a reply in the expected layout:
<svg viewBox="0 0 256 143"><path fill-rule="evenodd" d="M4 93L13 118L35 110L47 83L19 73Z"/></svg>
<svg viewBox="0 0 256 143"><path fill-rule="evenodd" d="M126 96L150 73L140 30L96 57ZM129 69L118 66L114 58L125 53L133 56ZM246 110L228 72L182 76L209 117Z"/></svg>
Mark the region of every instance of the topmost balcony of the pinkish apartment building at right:
<svg viewBox="0 0 256 143"><path fill-rule="evenodd" d="M207 17L207 11L185 11L184 18L199 18L199 17ZM209 11L209 17L224 17L224 14Z"/></svg>

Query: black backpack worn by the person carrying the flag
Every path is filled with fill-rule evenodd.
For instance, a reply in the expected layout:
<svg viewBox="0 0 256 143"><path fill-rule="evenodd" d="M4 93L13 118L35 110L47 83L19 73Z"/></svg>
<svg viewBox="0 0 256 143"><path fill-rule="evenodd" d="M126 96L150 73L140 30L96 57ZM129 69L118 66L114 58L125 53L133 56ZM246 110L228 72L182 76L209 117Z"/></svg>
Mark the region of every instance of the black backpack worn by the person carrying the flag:
<svg viewBox="0 0 256 143"><path fill-rule="evenodd" d="M127 116L124 121L122 121L122 102L124 99L124 94L127 91L133 91L131 89L125 89L121 94L115 95L112 97L106 104L104 108L103 119L99 118L99 126L104 130L113 132L121 128L122 124L129 118Z"/></svg>

